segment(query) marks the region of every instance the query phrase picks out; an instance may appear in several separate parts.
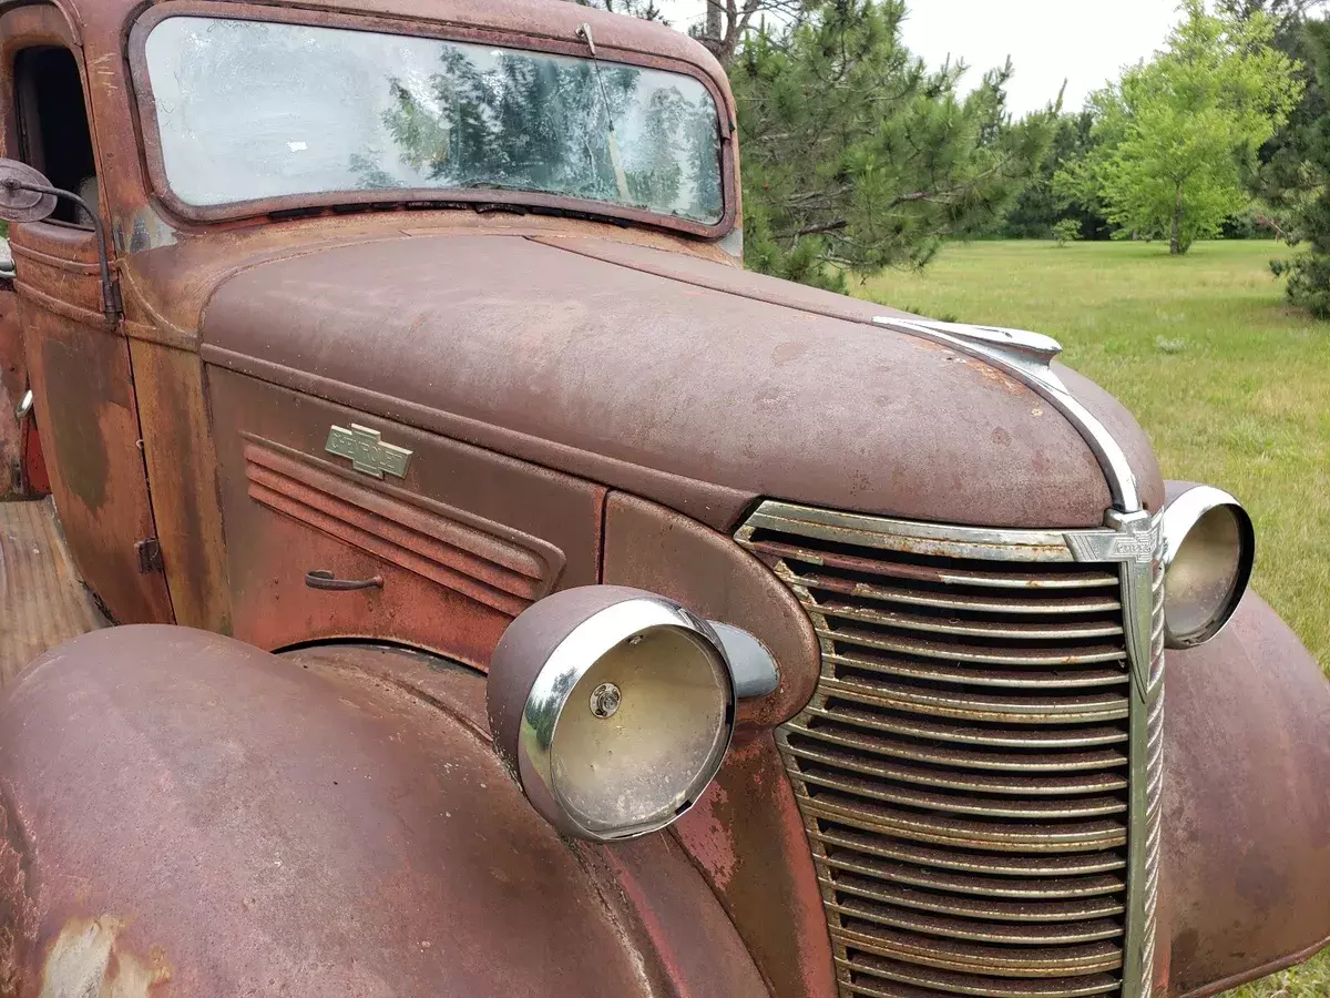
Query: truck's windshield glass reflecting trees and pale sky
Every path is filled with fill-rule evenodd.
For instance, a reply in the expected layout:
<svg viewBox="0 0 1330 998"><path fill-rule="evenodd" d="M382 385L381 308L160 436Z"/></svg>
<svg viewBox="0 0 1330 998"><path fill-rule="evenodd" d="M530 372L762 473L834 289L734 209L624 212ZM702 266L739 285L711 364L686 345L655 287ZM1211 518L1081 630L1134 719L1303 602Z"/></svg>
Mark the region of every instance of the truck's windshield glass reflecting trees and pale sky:
<svg viewBox="0 0 1330 998"><path fill-rule="evenodd" d="M716 104L689 76L215 17L168 17L145 56L188 205L491 188L721 220Z"/></svg>

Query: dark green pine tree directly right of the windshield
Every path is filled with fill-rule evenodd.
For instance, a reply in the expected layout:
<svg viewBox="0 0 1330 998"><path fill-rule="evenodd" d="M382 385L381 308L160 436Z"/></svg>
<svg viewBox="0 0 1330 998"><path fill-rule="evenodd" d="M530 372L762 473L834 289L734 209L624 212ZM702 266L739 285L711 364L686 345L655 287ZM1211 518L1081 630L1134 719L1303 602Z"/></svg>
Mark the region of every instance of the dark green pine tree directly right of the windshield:
<svg viewBox="0 0 1330 998"><path fill-rule="evenodd" d="M825 0L758 32L730 65L743 152L745 262L831 287L919 267L991 229L1043 161L1055 112L1012 124L990 72L928 71L900 40L902 0Z"/></svg>

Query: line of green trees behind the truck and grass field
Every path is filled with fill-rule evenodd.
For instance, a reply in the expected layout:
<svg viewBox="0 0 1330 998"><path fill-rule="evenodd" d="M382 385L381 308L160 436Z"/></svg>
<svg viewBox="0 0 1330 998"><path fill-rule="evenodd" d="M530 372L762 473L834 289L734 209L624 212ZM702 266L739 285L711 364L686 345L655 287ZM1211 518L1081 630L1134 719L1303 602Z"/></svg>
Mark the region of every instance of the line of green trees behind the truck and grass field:
<svg viewBox="0 0 1330 998"><path fill-rule="evenodd" d="M661 19L654 0L576 0ZM745 262L843 289L976 237L1275 236L1289 297L1330 317L1330 23L1323 0L1182 0L1149 60L1084 108L1013 117L1012 67L904 45L904 0L709 0L743 150ZM1112 9L1105 8L1105 16Z"/></svg>

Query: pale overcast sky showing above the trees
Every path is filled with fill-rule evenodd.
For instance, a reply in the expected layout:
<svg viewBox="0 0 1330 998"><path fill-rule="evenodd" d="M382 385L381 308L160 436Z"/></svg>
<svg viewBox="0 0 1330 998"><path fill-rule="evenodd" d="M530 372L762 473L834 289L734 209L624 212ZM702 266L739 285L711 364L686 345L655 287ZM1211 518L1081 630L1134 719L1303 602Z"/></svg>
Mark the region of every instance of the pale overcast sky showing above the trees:
<svg viewBox="0 0 1330 998"><path fill-rule="evenodd" d="M670 23L701 20L705 0L661 0ZM1043 108L1067 80L1064 106L1117 76L1120 67L1160 48L1177 20L1176 0L907 0L904 40L940 65L950 55L971 67L972 86L984 69L1009 55L1008 88L1016 114Z"/></svg>

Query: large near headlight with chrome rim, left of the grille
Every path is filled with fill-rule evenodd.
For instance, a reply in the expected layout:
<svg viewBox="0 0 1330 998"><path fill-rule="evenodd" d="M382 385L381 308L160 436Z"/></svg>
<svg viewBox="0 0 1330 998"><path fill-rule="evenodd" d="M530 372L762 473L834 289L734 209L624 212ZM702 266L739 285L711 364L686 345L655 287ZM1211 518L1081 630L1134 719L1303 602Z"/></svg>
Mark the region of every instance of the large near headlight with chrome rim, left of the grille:
<svg viewBox="0 0 1330 998"><path fill-rule="evenodd" d="M669 825L716 776L734 731L734 681L712 625L614 585L523 612L485 691L495 747L527 798L579 838Z"/></svg>

